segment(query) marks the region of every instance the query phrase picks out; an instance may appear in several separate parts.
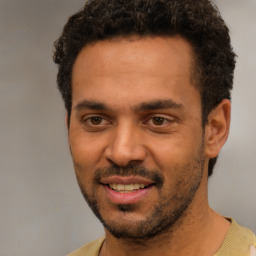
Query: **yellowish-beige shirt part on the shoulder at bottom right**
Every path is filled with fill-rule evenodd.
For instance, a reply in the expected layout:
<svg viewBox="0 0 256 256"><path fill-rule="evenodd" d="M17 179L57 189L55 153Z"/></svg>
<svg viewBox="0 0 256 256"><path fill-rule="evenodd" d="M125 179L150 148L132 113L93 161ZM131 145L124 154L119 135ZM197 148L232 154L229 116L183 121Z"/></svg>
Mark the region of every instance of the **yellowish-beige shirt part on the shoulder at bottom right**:
<svg viewBox="0 0 256 256"><path fill-rule="evenodd" d="M240 226L234 219L230 221L231 226L215 256L249 255L250 246L256 247L255 234L250 229Z"/></svg>

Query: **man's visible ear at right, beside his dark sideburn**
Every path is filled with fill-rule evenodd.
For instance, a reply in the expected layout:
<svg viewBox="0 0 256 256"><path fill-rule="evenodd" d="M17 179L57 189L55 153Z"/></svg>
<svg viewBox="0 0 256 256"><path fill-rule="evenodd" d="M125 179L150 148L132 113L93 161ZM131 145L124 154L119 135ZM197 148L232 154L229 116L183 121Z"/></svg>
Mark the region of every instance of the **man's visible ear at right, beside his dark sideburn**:
<svg viewBox="0 0 256 256"><path fill-rule="evenodd" d="M230 127L231 103L224 99L208 115L205 126L205 153L209 158L216 157L225 144Z"/></svg>

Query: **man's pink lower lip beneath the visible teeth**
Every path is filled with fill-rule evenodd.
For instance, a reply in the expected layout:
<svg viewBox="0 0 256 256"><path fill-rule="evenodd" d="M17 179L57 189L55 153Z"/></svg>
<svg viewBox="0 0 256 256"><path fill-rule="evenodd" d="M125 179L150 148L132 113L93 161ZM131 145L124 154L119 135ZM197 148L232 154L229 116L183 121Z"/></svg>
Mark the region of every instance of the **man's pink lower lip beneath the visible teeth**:
<svg viewBox="0 0 256 256"><path fill-rule="evenodd" d="M128 193L114 191L109 186L104 185L108 198L115 204L135 204L144 199L152 189L152 186L144 189L135 190Z"/></svg>

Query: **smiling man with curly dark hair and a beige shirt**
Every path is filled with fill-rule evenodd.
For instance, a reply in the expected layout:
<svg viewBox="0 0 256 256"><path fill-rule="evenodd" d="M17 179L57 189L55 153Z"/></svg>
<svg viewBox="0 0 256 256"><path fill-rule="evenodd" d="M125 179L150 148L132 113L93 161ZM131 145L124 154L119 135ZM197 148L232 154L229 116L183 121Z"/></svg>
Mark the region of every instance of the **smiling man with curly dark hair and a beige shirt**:
<svg viewBox="0 0 256 256"><path fill-rule="evenodd" d="M75 172L106 236L70 255L255 255L208 205L235 54L208 0L92 0L55 43Z"/></svg>

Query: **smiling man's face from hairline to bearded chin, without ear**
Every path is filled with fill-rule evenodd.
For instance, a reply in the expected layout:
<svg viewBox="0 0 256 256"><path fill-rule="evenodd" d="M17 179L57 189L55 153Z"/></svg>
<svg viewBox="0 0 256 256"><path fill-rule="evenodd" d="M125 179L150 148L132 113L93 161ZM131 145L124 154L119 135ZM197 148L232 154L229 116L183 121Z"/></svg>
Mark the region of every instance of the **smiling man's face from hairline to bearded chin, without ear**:
<svg viewBox="0 0 256 256"><path fill-rule="evenodd" d="M180 37L102 41L77 57L69 126L75 172L116 237L164 232L206 193L192 61Z"/></svg>

